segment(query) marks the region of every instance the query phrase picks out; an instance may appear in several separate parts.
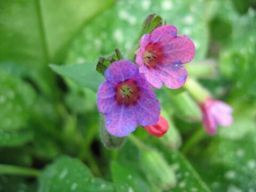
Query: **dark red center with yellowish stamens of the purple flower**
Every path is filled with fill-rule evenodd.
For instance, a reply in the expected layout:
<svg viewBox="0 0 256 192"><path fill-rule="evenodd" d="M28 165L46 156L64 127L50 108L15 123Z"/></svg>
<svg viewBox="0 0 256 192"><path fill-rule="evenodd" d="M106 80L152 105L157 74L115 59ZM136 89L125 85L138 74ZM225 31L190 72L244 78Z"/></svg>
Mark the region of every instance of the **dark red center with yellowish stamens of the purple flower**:
<svg viewBox="0 0 256 192"><path fill-rule="evenodd" d="M116 84L116 101L119 105L135 105L140 97L140 89L134 79Z"/></svg>

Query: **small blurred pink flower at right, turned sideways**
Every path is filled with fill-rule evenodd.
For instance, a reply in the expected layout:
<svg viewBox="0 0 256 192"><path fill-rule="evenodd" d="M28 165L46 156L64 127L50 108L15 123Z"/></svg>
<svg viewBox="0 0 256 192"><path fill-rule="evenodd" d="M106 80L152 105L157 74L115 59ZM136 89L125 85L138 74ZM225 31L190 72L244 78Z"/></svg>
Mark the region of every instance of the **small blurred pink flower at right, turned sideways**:
<svg viewBox="0 0 256 192"><path fill-rule="evenodd" d="M233 122L233 109L222 101L206 99L200 105L203 113L203 125L207 133L213 135L217 132L217 126L229 126Z"/></svg>

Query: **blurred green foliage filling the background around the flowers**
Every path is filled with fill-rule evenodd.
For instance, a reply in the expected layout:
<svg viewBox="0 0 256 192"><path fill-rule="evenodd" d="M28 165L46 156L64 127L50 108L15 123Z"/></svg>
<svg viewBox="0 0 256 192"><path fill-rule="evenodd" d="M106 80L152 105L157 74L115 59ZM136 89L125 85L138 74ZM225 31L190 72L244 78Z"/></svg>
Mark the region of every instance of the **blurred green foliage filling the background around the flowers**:
<svg viewBox="0 0 256 192"><path fill-rule="evenodd" d="M253 192L255 6L254 0L0 1L0 191ZM159 139L139 127L133 134L140 141L127 138L122 148L107 150L96 107L104 79L95 70L98 58L116 47L127 58L151 13L193 39L189 75L234 108L234 123L209 137L191 95L156 90L169 132Z"/></svg>

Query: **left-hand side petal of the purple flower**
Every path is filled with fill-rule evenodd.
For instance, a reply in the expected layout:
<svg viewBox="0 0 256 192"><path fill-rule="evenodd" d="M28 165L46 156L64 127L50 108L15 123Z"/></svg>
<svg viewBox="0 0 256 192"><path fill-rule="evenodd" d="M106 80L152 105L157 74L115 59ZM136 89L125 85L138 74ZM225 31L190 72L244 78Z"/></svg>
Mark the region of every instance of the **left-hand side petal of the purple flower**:
<svg viewBox="0 0 256 192"><path fill-rule="evenodd" d="M97 92L97 103L98 110L102 114L107 114L109 111L115 108L115 89L114 86L109 82L103 82Z"/></svg>

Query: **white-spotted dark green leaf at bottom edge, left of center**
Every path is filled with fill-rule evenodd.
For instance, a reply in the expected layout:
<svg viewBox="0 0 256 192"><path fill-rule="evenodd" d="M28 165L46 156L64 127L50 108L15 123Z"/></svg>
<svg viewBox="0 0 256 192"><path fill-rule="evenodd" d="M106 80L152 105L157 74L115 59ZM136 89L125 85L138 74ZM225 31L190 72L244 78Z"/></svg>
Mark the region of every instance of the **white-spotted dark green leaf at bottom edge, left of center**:
<svg viewBox="0 0 256 192"><path fill-rule="evenodd" d="M39 192L44 191L114 191L111 183L95 178L80 161L60 157L46 167L39 177Z"/></svg>

